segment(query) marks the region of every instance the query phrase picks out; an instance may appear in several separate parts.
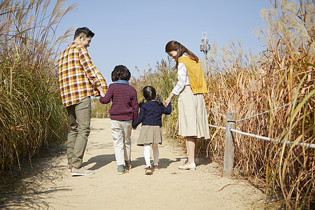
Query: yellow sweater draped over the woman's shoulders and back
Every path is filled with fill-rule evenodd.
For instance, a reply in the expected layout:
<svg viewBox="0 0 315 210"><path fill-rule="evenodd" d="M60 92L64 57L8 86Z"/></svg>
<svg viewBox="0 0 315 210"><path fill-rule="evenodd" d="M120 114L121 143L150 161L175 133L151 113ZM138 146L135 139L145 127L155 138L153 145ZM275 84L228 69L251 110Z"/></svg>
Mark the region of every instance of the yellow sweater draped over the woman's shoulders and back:
<svg viewBox="0 0 315 210"><path fill-rule="evenodd" d="M181 62L186 66L193 94L208 92L206 80L204 80L204 71L202 71L200 62L196 63L195 59L186 56L179 57L179 63Z"/></svg>

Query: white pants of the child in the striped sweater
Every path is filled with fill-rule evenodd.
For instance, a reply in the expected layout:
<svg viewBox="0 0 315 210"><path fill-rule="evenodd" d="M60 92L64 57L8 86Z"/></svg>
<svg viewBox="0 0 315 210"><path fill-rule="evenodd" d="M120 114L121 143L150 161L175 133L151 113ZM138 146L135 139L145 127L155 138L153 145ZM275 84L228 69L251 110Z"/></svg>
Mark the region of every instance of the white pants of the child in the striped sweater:
<svg viewBox="0 0 315 210"><path fill-rule="evenodd" d="M132 120L111 120L111 135L117 165L125 165L130 160Z"/></svg>

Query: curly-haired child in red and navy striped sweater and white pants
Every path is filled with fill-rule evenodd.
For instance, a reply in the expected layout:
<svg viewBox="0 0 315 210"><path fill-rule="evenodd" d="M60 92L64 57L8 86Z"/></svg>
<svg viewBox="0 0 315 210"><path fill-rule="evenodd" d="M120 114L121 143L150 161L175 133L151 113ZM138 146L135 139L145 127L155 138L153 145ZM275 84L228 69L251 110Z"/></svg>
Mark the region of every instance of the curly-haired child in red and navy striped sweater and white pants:
<svg viewBox="0 0 315 210"><path fill-rule="evenodd" d="M130 76L131 73L126 66L116 66L111 72L111 80L114 83L109 85L105 96L99 98L102 104L112 102L109 114L118 175L127 173L131 168L132 121L137 118L139 109L137 91L128 83Z"/></svg>

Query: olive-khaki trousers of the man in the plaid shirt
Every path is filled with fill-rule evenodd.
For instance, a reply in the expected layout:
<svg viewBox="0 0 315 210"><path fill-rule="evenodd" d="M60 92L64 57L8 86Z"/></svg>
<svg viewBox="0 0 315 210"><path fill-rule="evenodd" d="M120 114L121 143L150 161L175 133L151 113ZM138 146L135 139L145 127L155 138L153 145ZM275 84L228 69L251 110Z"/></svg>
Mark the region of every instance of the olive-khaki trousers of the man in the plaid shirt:
<svg viewBox="0 0 315 210"><path fill-rule="evenodd" d="M69 116L68 146L66 155L68 164L75 168L82 167L83 155L90 134L91 99L86 97L78 104L67 106Z"/></svg>

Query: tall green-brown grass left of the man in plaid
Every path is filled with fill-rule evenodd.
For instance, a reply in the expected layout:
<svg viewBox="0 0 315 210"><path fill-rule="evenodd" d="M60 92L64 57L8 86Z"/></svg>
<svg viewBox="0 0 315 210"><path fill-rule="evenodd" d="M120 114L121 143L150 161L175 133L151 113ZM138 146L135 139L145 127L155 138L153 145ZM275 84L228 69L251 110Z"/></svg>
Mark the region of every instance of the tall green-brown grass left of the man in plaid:
<svg viewBox="0 0 315 210"><path fill-rule="evenodd" d="M0 172L65 137L56 50L70 31L55 37L61 18L73 9L64 2L0 3Z"/></svg>

